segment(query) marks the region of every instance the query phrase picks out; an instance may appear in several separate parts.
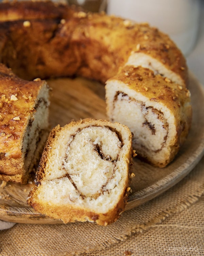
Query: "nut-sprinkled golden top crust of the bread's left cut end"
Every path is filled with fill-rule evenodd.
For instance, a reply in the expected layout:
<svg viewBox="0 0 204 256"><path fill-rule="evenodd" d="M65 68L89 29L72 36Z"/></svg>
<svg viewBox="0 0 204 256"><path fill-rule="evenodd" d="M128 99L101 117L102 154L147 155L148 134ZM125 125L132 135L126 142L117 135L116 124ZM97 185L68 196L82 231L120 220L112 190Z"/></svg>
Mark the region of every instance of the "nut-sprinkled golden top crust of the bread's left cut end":
<svg viewBox="0 0 204 256"><path fill-rule="evenodd" d="M13 72L0 64L0 152L9 152L8 157L17 158L22 130L26 127L29 114L35 112L34 105L44 81L28 82L19 79Z"/></svg>

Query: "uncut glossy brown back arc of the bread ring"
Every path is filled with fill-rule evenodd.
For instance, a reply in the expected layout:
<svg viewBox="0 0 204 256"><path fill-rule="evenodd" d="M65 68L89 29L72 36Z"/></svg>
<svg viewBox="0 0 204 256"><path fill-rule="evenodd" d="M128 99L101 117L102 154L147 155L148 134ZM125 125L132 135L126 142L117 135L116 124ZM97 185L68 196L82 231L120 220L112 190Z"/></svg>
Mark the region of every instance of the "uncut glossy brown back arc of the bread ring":
<svg viewBox="0 0 204 256"><path fill-rule="evenodd" d="M5 15L2 15L3 13ZM39 76L43 79L51 75L78 74L105 82L118 72L119 67L125 65L131 53L139 52L159 60L166 68L181 76L184 83L187 83L187 66L181 51L168 35L148 24L136 24L130 20L108 16L104 13L76 11L70 6L63 6L50 1L1 3L0 16L0 37L3 38L0 45L2 52L0 61L4 63L8 58L13 58L15 62L18 56L22 54L22 48L18 52L19 44L22 42L19 38L14 37L16 59L12 57L12 54L4 56L5 49L10 43L10 39L4 37L4 34L7 31L12 31L12 27L13 33L17 31L16 29L21 30L21 34L25 38L27 34L36 33L39 35L39 40L47 49L40 52L40 58L43 61L48 57L48 53L55 55L56 61L56 52L61 51L66 55L69 48L71 60L68 58L63 58L63 61L58 60L57 64L61 66L59 74L57 70L54 72L52 67L50 67L50 73L41 72L36 60L35 64L39 68L39 72L34 73L33 77L30 75L32 78ZM15 21L12 22L14 19ZM24 23L25 21L29 21L29 23ZM36 32L37 29L39 29L38 32ZM32 44L31 40L35 41L32 36L28 37L27 45ZM31 49L28 53L30 59L36 56L36 53L32 55ZM62 53L61 55L63 56ZM54 56L49 56L49 58L51 63ZM67 68L68 66L69 68ZM17 69L14 71L18 73L16 72Z"/></svg>

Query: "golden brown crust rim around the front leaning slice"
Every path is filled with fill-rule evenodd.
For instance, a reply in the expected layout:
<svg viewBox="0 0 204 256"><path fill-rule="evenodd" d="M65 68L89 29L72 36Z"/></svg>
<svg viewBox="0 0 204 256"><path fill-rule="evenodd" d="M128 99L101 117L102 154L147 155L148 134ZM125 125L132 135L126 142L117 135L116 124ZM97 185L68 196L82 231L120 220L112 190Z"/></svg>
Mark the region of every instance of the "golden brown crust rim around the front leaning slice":
<svg viewBox="0 0 204 256"><path fill-rule="evenodd" d="M50 158L52 147L54 145L54 140L59 136L62 129L68 129L74 126L79 126L81 128L87 127L89 125L97 125L97 126L107 126L111 129L115 129L117 132L120 131L119 124L111 124L108 121L105 120L95 120L91 118L86 118L83 120L80 120L78 122L72 121L70 124L66 125L65 127L60 127L59 125L52 129L52 131L49 134L48 140L46 142L44 152L42 154L40 163L39 163L39 170L36 173L36 179L35 179L35 187L30 191L30 194L28 196L28 204L31 205L36 211L46 214L50 217L56 218L56 219L62 219L64 223L67 222L75 222L75 221L91 221L96 222L98 225L106 226L108 224L111 224L115 222L119 217L120 214L124 211L129 190L130 190L130 183L131 183L131 174L130 174L130 166L132 165L132 134L129 130L129 134L127 135L128 140L130 141L129 147L130 150L126 152L125 155L123 155L123 159L129 159L129 161L126 162L127 168L124 169L125 174L125 181L124 181L124 187L122 188L122 191L120 192L120 199L117 201L117 205L111 210L108 210L106 213L100 213L100 212L94 212L90 211L90 209L85 208L79 204L63 204L61 207L57 206L54 203L47 203L43 200L40 200L38 198L38 195L40 195L40 186L43 183L43 181L46 180L47 175L47 164L49 165L49 162L52 161ZM123 126L125 127L125 126ZM125 132L128 133L128 130ZM124 160L125 161L125 160ZM54 170L53 170L54 171ZM122 170L121 170L122 171ZM59 195L60 197L60 195Z"/></svg>

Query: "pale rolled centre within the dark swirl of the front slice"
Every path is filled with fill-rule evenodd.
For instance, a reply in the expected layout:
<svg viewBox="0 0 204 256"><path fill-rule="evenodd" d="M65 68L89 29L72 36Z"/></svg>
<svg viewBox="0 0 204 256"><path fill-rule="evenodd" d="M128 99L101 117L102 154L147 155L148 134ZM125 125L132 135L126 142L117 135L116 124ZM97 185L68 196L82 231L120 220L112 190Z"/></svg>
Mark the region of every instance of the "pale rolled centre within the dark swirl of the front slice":
<svg viewBox="0 0 204 256"><path fill-rule="evenodd" d="M76 151L79 142L81 144ZM82 199L97 199L105 191L109 193L109 182L116 175L122 146L121 134L111 127L87 126L78 129L67 144L63 162L66 174L63 177L69 179Z"/></svg>

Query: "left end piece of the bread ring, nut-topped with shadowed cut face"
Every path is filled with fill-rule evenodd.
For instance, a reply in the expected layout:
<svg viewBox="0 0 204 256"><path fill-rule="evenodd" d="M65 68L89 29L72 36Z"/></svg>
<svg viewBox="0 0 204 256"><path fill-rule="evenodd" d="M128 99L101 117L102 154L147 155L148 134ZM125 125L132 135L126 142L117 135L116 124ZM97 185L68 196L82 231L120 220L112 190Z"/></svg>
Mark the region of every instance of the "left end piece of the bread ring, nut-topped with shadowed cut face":
<svg viewBox="0 0 204 256"><path fill-rule="evenodd" d="M0 179L27 183L48 136L49 87L0 64Z"/></svg>

